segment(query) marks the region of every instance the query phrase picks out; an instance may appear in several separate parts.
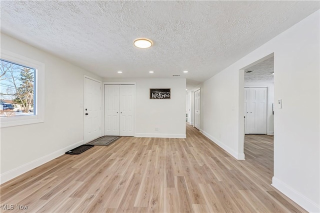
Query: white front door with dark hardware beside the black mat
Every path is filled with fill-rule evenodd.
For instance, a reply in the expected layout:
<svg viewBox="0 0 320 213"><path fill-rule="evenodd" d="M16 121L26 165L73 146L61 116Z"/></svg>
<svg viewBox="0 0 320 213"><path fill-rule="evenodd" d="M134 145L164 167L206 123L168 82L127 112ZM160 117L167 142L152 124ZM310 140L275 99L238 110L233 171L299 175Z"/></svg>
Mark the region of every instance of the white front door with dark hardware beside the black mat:
<svg viewBox="0 0 320 213"><path fill-rule="evenodd" d="M101 83L84 78L84 143L101 136Z"/></svg>

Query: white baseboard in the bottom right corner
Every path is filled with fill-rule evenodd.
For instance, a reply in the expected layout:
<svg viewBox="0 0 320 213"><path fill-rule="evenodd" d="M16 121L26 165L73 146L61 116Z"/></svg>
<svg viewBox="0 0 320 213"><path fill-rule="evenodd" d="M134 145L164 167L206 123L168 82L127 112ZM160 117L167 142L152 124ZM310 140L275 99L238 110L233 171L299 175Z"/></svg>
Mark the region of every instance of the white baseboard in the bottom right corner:
<svg viewBox="0 0 320 213"><path fill-rule="evenodd" d="M279 180L276 177L272 177L272 184L273 187L281 191L287 197L292 199L295 203L300 205L302 208L307 210L308 212L320 212L320 206L313 202L312 200L305 197L303 194L297 192L283 181Z"/></svg>

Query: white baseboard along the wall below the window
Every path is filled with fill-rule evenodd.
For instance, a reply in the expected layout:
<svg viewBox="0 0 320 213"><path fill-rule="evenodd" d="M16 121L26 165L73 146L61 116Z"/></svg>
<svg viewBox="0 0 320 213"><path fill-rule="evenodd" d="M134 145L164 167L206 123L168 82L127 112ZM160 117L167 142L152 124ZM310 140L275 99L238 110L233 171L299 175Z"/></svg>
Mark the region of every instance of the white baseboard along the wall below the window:
<svg viewBox="0 0 320 213"><path fill-rule="evenodd" d="M18 166L16 168L13 168L13 169L9 170L9 171L1 173L0 174L0 184L4 183L4 182L6 182L6 181L8 181L10 179L13 179L14 177L19 176L20 174L23 174L23 173L25 173L25 172L27 172L27 171L39 166L39 165L42 165L42 164L44 164L44 163L46 163L46 162L48 162L48 161L50 161L50 160L52 160L52 159L54 159L54 158L56 158L58 156L64 154L66 151L68 151L68 150L70 150L72 148L75 148L75 147L77 147L79 145L82 145L82 144L83 144L83 140L81 140L79 142L76 142L76 143L73 143L71 145L68 145L68 146L66 146L64 148L56 150L56 151L54 151L52 153L49 153L47 155L44 155L42 157L39 157L39 158L37 158L35 160L32 160L30 162L27 162L27 163L25 163L23 165L20 165L20 166Z"/></svg>

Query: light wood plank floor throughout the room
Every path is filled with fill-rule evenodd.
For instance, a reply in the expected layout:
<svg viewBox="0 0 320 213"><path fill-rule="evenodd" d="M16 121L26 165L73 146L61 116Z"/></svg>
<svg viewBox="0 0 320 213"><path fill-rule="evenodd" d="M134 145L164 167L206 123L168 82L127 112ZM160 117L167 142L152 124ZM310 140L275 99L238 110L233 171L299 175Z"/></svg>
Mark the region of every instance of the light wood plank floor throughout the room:
<svg viewBox="0 0 320 213"><path fill-rule="evenodd" d="M2 184L0 204L28 206L3 212L304 212L270 185L272 140L247 135L246 160L235 160L190 125L186 139L121 137Z"/></svg>

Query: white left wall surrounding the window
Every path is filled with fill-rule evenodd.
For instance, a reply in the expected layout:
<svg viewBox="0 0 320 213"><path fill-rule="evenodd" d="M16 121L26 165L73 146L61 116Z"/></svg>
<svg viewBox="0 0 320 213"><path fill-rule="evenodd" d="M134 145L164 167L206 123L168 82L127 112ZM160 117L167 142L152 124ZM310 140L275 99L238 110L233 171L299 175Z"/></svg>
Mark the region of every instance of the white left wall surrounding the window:
<svg viewBox="0 0 320 213"><path fill-rule="evenodd" d="M84 74L97 76L1 33L1 49L45 64L44 122L1 127L1 183L83 144Z"/></svg>

